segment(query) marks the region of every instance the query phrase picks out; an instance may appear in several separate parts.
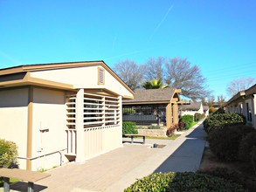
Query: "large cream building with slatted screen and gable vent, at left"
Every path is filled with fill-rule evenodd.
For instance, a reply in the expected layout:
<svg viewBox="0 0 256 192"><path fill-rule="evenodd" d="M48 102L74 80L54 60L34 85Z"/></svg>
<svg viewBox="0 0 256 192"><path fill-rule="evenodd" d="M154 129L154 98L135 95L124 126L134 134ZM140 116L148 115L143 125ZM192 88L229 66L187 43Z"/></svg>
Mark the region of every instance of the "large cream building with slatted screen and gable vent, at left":
<svg viewBox="0 0 256 192"><path fill-rule="evenodd" d="M86 161L122 146L121 103L134 92L103 62L19 65L0 70L0 138L20 168Z"/></svg>

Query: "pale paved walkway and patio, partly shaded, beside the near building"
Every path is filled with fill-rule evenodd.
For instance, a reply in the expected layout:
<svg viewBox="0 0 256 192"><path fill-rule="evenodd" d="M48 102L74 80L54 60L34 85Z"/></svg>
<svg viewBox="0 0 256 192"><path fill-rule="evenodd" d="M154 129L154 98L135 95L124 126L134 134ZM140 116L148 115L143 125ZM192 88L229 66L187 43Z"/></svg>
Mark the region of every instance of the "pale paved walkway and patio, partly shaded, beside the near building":
<svg viewBox="0 0 256 192"><path fill-rule="evenodd" d="M131 145L130 139L124 138L121 148L84 163L69 163L48 171L52 176L35 184L35 189L119 192L136 178L152 173L196 171L204 153L205 136L203 126L197 124L175 141L146 139L146 144L142 145L142 139L138 138ZM166 146L152 148L154 143ZM14 185L12 189L15 187L21 186Z"/></svg>

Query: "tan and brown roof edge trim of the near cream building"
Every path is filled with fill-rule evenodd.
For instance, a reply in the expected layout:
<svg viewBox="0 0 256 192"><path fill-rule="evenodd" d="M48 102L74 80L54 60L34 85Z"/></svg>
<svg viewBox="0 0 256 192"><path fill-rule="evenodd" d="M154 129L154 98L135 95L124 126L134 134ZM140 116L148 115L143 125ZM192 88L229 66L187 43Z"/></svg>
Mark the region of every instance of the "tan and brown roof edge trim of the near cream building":
<svg viewBox="0 0 256 192"><path fill-rule="evenodd" d="M124 86L129 93L134 95L134 91L131 90L121 78L110 69L104 61L80 61L80 62L65 62L65 63L50 63L50 64L34 64L34 65L18 65L9 68L0 69L0 88L11 87L11 86L48 86L52 88L73 90L73 85L54 82L45 79L33 78L30 72L38 72L45 70L56 70L56 69L67 69L84 66L100 65L107 72L109 72L114 79L117 79L122 86Z"/></svg>

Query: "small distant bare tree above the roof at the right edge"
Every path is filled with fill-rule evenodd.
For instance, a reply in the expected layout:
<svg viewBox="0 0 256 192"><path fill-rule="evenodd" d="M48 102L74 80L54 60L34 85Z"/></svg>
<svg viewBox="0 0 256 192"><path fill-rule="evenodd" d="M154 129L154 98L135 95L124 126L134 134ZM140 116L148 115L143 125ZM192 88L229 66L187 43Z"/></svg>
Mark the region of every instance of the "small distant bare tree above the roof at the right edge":
<svg viewBox="0 0 256 192"><path fill-rule="evenodd" d="M250 86L253 86L255 83L255 79L253 78L240 78L240 79L234 79L227 85L227 93L231 96L235 95L236 93L239 93L241 91L245 91Z"/></svg>

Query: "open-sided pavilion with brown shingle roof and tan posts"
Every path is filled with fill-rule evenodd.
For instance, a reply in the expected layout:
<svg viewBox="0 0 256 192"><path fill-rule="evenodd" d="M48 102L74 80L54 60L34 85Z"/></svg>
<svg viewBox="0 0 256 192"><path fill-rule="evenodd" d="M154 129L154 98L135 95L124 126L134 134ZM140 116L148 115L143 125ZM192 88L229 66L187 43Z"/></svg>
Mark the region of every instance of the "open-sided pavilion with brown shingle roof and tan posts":
<svg viewBox="0 0 256 192"><path fill-rule="evenodd" d="M162 123L170 127L178 123L179 93L181 90L176 88L135 90L134 99L122 100L123 121L142 126Z"/></svg>

